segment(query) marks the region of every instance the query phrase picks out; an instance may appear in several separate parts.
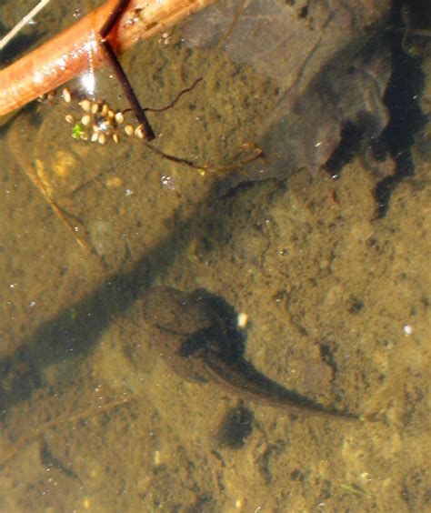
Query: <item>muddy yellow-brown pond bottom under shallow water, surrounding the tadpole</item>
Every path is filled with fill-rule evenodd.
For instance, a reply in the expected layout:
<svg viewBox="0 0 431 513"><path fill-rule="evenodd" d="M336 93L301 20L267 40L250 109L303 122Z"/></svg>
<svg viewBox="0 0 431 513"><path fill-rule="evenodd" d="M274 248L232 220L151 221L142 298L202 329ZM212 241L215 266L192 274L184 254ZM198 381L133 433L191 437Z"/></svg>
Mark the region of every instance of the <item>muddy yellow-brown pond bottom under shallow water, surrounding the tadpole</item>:
<svg viewBox="0 0 431 513"><path fill-rule="evenodd" d="M204 76L151 115L156 144L199 163L234 161L281 97L222 50L190 50L180 29L123 62L148 106ZM420 66L429 116L429 57ZM109 71L97 88L124 105ZM409 148L415 176L376 218L391 156L359 153L337 180L300 170L220 196L219 174L138 141L75 141L69 110L33 106L0 134L0 509L426 510L427 126ZM142 315L154 285L223 297L246 313L246 358L263 374L363 419L280 411L177 376Z"/></svg>

